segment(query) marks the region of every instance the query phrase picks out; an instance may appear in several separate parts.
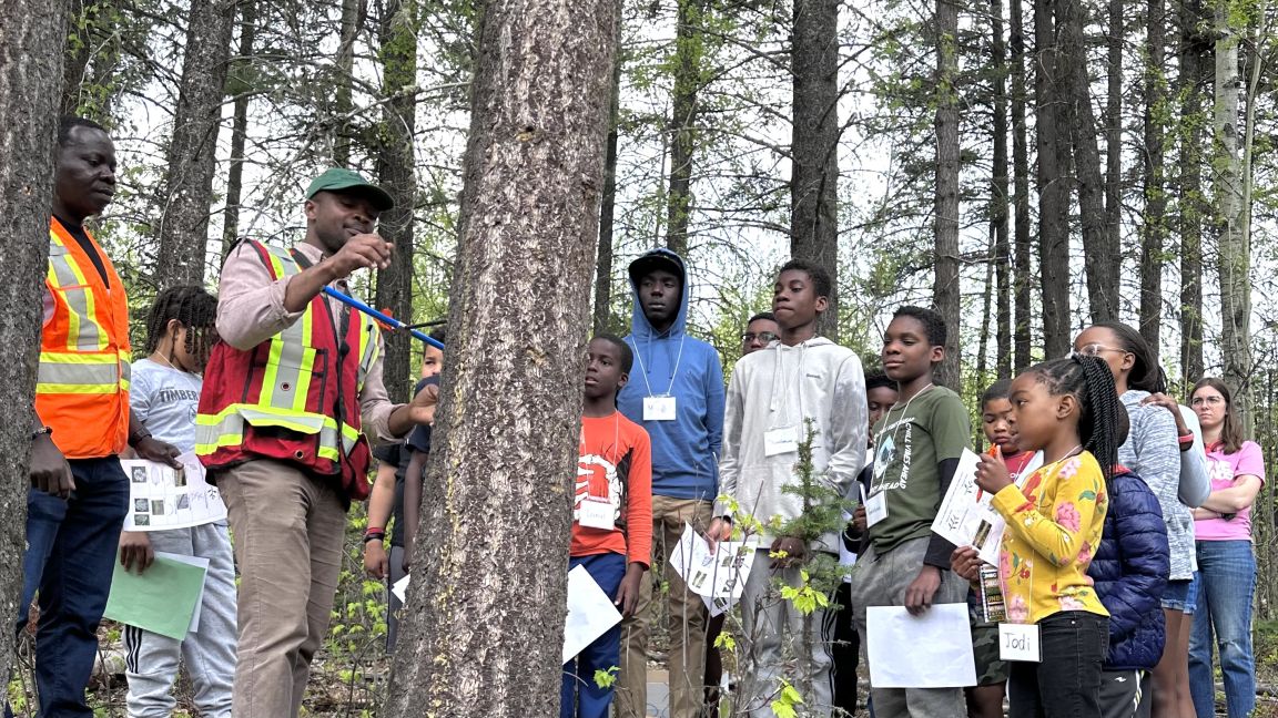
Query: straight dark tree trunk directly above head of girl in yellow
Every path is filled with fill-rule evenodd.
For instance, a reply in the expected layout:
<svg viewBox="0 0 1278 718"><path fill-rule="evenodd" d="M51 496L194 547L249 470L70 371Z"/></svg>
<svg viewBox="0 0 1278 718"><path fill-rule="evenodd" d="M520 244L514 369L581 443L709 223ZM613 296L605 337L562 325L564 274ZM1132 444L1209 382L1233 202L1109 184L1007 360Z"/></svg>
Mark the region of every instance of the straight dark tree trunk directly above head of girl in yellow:
<svg viewBox="0 0 1278 718"><path fill-rule="evenodd" d="M1034 120L1038 148L1039 275L1043 287L1043 351L1063 356L1070 350L1070 187L1068 152L1061 133L1068 133L1059 109L1057 49L1052 8L1034 0ZM1067 143L1065 143L1067 144Z"/></svg>

